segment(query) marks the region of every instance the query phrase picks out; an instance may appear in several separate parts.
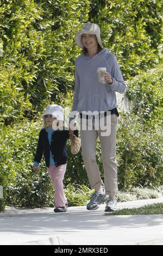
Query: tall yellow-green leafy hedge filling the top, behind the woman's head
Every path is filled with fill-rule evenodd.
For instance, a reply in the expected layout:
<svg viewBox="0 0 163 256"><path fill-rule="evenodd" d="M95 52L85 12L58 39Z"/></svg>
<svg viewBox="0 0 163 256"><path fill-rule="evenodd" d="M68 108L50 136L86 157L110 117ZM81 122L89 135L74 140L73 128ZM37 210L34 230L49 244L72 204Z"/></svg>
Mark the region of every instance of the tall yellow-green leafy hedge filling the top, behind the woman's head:
<svg viewBox="0 0 163 256"><path fill-rule="evenodd" d="M101 27L125 80L159 62L161 0L1 1L0 121L33 119L73 87L74 35L87 21ZM62 102L61 102L62 103Z"/></svg>

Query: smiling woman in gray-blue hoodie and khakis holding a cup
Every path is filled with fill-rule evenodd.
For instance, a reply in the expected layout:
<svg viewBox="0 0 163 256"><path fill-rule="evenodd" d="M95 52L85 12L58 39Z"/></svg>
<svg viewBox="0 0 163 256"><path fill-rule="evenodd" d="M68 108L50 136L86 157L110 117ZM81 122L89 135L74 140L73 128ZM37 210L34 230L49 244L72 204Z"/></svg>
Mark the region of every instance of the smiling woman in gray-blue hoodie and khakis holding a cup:
<svg viewBox="0 0 163 256"><path fill-rule="evenodd" d="M116 57L102 47L99 26L86 23L75 36L77 45L83 53L75 62L75 91L72 111L80 113L82 127L80 131L82 156L90 185L95 189L87 210L96 210L99 204L106 202L105 211L116 210L117 164L116 164L116 130L118 112L116 108L116 92L124 93L126 86ZM102 80L98 80L97 69L105 68ZM103 118L101 113L104 114ZM92 120L92 129L88 120ZM83 120L86 121L86 129ZM106 119L106 120L105 120ZM110 133L104 134L99 123L104 120ZM96 141L101 142L102 162L104 169L104 185L96 162Z"/></svg>

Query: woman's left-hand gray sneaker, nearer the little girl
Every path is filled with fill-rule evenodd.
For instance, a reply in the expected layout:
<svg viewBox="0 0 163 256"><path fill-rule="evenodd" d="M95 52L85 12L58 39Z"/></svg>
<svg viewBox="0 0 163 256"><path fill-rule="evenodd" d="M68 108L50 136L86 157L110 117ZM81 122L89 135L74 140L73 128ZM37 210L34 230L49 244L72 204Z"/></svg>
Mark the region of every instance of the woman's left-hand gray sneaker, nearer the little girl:
<svg viewBox="0 0 163 256"><path fill-rule="evenodd" d="M103 193L100 194L98 192L95 192L92 194L90 202L87 204L86 209L87 210L96 210L99 208L99 205L101 203L104 203L106 200L108 200L109 196L108 194L105 194L105 190L103 188Z"/></svg>

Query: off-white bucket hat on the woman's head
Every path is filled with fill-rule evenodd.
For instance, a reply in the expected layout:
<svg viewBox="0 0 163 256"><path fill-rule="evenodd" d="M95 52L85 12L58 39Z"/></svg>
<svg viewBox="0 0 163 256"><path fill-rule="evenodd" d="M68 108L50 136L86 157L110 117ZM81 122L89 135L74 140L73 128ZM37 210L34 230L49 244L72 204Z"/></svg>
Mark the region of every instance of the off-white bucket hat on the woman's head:
<svg viewBox="0 0 163 256"><path fill-rule="evenodd" d="M102 47L102 41L100 37L100 29L99 26L95 23L87 22L84 26L82 31L79 31L76 36L75 40L77 45L83 49L83 42L82 42L82 34L93 34L96 35L98 44Z"/></svg>

